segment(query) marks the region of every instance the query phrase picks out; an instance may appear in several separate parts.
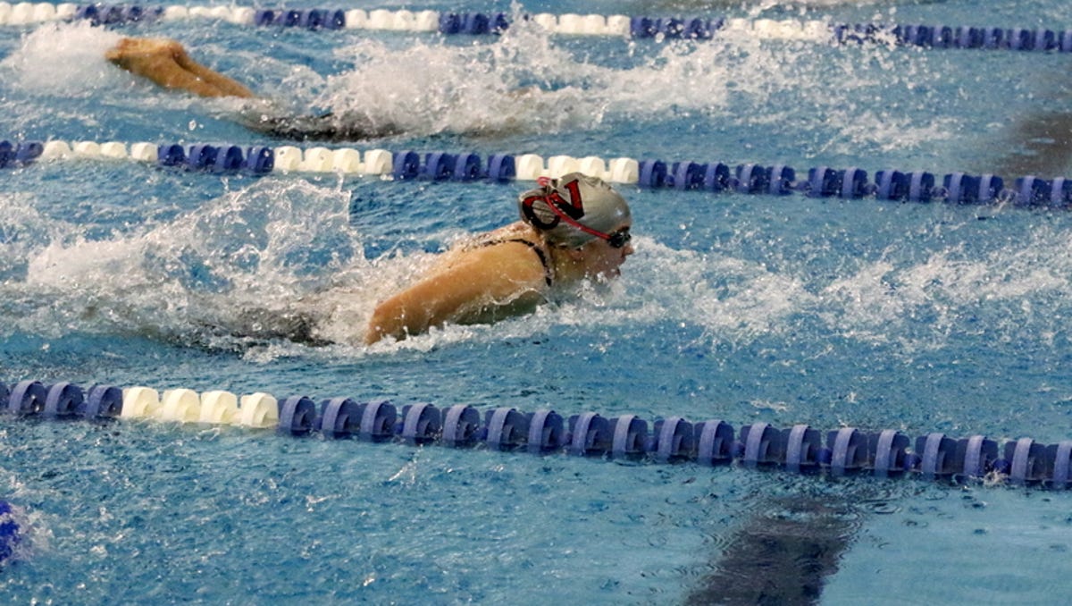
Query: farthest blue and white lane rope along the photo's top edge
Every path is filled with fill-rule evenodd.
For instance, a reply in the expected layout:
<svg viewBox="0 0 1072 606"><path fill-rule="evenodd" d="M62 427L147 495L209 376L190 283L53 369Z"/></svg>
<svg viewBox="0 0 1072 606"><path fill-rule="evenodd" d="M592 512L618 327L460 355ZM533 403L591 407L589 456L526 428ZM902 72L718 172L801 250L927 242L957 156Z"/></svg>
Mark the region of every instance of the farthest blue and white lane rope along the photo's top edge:
<svg viewBox="0 0 1072 606"><path fill-rule="evenodd" d="M256 27L308 30L374 29L438 32L446 35L498 34L510 27L505 13L440 13L361 9L252 9L249 6L142 6L0 2L0 25L32 25L85 19L120 26L157 20L215 19ZM838 44L880 42L923 48L981 48L1072 51L1072 30L944 25L830 24L816 20L725 19L540 13L523 15L552 33L613 35L637 40L712 40L718 31L739 31L762 39L830 41Z"/></svg>

